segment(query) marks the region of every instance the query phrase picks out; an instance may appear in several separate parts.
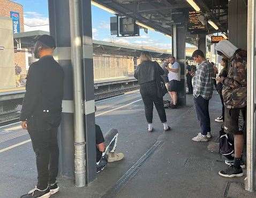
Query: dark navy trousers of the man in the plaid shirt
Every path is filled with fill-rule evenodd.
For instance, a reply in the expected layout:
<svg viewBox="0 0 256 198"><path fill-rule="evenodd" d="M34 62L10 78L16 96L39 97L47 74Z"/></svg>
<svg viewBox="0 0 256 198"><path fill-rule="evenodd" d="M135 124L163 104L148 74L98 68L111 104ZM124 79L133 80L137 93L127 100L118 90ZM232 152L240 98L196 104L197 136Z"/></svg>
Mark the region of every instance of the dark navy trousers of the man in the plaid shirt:
<svg viewBox="0 0 256 198"><path fill-rule="evenodd" d="M201 96L194 98L195 110L200 122L201 134L206 135L210 132L209 100Z"/></svg>

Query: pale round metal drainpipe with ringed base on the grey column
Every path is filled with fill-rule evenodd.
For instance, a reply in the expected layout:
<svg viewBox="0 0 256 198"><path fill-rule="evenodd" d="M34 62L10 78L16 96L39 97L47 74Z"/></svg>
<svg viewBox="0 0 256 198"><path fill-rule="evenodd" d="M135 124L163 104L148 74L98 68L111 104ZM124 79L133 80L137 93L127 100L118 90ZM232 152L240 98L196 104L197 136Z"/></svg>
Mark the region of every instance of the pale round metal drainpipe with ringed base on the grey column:
<svg viewBox="0 0 256 198"><path fill-rule="evenodd" d="M84 91L82 84L82 42L80 23L80 1L70 0L71 60L74 83L74 173L76 186L85 186L85 128Z"/></svg>

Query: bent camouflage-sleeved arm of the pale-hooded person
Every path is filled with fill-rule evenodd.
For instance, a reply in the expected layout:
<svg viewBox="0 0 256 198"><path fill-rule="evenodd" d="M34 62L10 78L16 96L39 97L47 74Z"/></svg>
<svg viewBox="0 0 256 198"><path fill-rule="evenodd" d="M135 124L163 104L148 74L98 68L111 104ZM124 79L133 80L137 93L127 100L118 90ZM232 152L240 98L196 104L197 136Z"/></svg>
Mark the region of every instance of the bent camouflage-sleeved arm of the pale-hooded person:
<svg viewBox="0 0 256 198"><path fill-rule="evenodd" d="M226 77L222 79L222 83L225 86L229 86L230 88L239 88L246 86L247 84L247 74L244 64L242 62L237 62L237 64L234 64L234 78Z"/></svg>

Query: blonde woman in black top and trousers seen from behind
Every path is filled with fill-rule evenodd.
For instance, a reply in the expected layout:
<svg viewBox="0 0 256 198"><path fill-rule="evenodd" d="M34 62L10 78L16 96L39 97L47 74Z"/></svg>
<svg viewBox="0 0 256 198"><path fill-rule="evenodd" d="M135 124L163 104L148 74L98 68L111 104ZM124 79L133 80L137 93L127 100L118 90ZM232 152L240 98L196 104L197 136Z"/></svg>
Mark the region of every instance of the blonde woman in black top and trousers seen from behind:
<svg viewBox="0 0 256 198"><path fill-rule="evenodd" d="M145 106L145 114L148 122L148 131L153 131L153 102L160 120L163 123L164 131L169 131L165 110L163 108L163 98L157 97L157 75L163 75L164 70L156 61L152 61L149 52L142 52L140 56L141 64L135 70L134 77L139 81L140 93Z"/></svg>

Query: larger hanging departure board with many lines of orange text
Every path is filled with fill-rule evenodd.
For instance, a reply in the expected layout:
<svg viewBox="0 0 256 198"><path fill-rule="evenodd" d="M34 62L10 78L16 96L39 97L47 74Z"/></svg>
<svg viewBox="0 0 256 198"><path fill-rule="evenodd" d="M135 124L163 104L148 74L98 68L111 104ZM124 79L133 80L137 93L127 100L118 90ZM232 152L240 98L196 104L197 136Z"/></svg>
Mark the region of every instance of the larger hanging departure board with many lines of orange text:
<svg viewBox="0 0 256 198"><path fill-rule="evenodd" d="M187 25L187 31L189 31L191 34L202 34L206 33L207 26L202 25L202 23L198 20L199 15L201 15L202 12L196 12L196 11L190 11L189 12L189 23Z"/></svg>

